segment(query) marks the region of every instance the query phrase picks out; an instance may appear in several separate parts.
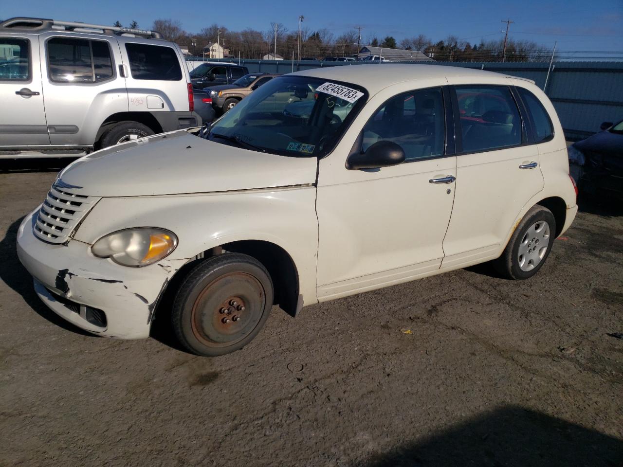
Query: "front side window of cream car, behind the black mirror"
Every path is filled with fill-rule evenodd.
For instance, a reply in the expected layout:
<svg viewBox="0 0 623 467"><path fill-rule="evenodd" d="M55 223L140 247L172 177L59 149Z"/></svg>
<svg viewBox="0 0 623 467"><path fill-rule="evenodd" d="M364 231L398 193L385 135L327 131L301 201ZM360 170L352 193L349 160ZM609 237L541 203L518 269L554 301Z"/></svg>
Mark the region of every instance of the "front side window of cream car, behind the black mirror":
<svg viewBox="0 0 623 467"><path fill-rule="evenodd" d="M445 142L441 88L410 91L386 101L363 127L361 149L384 140L399 144L406 161L441 156Z"/></svg>

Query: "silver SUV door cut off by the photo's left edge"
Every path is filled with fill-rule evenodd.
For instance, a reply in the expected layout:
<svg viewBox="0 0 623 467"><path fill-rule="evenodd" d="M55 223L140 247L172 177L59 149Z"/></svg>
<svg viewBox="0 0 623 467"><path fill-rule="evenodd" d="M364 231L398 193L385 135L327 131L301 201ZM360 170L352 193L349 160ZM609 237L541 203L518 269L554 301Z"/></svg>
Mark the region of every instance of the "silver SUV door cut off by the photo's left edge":
<svg viewBox="0 0 623 467"><path fill-rule="evenodd" d="M0 147L47 146L36 35L0 36Z"/></svg>

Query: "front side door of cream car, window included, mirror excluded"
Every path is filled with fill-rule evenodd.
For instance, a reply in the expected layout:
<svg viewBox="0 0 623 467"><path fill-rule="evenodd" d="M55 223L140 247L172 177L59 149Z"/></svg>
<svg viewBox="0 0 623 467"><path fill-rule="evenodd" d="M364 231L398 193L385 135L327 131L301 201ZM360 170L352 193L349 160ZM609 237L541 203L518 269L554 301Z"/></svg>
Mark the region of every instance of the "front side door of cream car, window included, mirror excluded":
<svg viewBox="0 0 623 467"><path fill-rule="evenodd" d="M338 154L320 161L321 301L426 275L444 257L457 163L445 144L444 93L434 87L390 96L379 101L358 144L366 151L393 141L404 149L404 163L348 170Z"/></svg>

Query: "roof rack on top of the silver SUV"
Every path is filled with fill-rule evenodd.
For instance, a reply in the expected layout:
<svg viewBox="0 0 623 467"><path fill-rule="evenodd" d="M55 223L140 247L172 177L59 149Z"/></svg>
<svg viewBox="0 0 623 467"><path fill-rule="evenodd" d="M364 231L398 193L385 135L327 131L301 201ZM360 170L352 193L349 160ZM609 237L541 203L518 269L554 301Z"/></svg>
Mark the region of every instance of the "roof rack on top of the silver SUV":
<svg viewBox="0 0 623 467"><path fill-rule="evenodd" d="M103 26L102 24L89 24L76 21L58 21L57 19L15 17L2 21L0 27L16 29L32 29L40 31L42 29L56 29L60 31L74 32L101 32L102 34L134 34L150 39L162 39L162 35L156 31L138 29L134 27Z"/></svg>

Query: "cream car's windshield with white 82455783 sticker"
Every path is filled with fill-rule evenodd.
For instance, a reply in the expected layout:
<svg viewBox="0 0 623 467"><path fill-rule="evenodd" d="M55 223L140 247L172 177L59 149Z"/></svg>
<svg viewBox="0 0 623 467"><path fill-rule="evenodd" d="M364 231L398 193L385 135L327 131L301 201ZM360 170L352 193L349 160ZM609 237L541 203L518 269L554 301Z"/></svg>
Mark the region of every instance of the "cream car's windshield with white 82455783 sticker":
<svg viewBox="0 0 623 467"><path fill-rule="evenodd" d="M325 156L367 97L366 90L349 83L274 78L217 120L207 138L283 156Z"/></svg>

